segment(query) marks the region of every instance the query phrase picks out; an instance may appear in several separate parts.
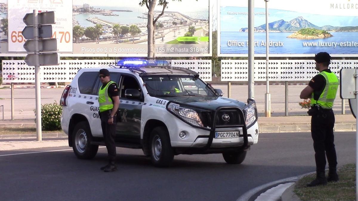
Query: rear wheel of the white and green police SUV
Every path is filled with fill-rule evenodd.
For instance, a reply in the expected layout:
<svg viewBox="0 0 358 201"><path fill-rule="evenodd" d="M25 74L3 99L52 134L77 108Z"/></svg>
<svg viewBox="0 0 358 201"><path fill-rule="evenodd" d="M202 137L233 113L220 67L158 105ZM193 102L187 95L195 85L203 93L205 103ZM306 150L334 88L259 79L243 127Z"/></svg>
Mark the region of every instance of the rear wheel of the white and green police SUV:
<svg viewBox="0 0 358 201"><path fill-rule="evenodd" d="M96 156L98 145L91 144L92 133L87 122L78 122L72 133L72 148L80 159L92 159Z"/></svg>

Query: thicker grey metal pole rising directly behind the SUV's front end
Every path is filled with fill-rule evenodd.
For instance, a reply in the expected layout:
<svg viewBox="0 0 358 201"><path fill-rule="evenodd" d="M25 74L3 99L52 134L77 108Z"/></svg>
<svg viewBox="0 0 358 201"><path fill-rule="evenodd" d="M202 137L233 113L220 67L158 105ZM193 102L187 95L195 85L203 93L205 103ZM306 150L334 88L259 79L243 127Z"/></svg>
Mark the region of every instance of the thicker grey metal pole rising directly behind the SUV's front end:
<svg viewBox="0 0 358 201"><path fill-rule="evenodd" d="M253 77L255 43L253 35L254 0L248 0L248 98L254 99L255 80Z"/></svg>

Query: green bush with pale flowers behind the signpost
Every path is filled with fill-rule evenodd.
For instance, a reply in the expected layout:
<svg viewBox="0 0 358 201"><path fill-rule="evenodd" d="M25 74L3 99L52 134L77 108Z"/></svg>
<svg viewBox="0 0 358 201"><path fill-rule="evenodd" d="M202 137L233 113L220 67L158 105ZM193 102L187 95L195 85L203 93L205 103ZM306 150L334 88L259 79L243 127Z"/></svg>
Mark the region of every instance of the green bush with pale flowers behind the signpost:
<svg viewBox="0 0 358 201"><path fill-rule="evenodd" d="M36 116L36 110L34 110ZM44 131L55 131L61 129L62 106L56 101L54 103L41 105L41 121ZM36 122L36 119L35 119Z"/></svg>

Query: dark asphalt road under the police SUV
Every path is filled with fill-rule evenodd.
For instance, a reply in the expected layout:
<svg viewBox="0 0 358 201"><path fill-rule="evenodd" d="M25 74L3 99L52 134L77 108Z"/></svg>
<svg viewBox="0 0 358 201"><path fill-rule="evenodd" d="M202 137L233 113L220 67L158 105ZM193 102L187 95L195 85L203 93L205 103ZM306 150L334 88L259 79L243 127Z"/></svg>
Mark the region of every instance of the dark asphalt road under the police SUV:
<svg viewBox="0 0 358 201"><path fill-rule="evenodd" d="M338 165L355 162L355 132L336 132ZM241 165L222 155L179 155L156 168L141 150L117 148L118 171L78 160L69 147L0 152L1 200L236 200L257 186L315 171L310 133L265 133ZM32 154L1 156L34 151Z"/></svg>

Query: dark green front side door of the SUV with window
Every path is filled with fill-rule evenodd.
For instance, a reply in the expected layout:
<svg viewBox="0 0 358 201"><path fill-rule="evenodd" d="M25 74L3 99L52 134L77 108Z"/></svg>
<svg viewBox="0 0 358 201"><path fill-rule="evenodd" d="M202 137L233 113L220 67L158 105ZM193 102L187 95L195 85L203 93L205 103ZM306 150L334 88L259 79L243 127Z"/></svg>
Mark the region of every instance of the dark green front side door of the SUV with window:
<svg viewBox="0 0 358 201"><path fill-rule="evenodd" d="M135 76L122 73L119 88L119 109L122 121L117 123L116 141L140 144L140 122L143 105L141 86ZM127 99L125 97L126 89L138 89L141 92L141 98Z"/></svg>

